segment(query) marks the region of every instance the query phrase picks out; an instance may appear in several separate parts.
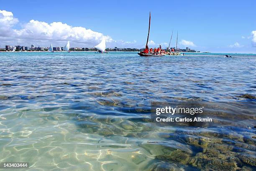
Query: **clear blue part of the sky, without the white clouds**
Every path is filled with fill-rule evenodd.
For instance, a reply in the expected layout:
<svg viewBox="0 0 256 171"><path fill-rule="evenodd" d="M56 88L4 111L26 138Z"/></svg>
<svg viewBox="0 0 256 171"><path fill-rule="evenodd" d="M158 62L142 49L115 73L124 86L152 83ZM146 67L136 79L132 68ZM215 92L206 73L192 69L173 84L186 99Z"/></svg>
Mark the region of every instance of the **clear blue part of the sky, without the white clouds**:
<svg viewBox="0 0 256 171"><path fill-rule="evenodd" d="M128 42L119 42L117 45L120 47L145 45L148 16L151 11L149 40L155 43L152 46L161 43L165 47L174 29L175 38L177 30L179 31L178 46L181 48L186 47L188 43L191 49L201 51L256 53L256 44L252 41L251 34L256 30L255 0L23 0L14 3L1 0L0 10L12 12L19 20L13 25L13 29L22 29L24 23L30 20L62 22L108 35L118 42ZM172 46L175 46L175 38L172 40ZM5 42L8 42L7 39ZM31 43L27 41L27 44ZM112 45L115 44L108 45L107 41L107 47ZM72 47L74 46L76 42L73 43ZM82 45L77 43L77 46Z"/></svg>

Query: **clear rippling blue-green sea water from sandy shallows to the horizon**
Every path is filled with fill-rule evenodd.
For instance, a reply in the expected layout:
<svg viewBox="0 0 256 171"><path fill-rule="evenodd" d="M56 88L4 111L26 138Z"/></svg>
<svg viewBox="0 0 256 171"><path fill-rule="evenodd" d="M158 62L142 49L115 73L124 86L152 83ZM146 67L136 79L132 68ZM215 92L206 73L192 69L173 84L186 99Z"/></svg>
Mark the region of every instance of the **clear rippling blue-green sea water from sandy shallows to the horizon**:
<svg viewBox="0 0 256 171"><path fill-rule="evenodd" d="M256 169L255 111L205 128L149 121L151 102L255 102L256 55L224 56L0 53L0 161L32 170Z"/></svg>

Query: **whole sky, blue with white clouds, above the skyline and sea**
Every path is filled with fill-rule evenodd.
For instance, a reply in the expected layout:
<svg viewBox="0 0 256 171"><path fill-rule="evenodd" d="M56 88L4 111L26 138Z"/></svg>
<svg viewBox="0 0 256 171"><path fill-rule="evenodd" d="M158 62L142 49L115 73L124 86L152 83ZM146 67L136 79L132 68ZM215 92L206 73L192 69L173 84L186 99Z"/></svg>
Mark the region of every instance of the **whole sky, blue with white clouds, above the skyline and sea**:
<svg viewBox="0 0 256 171"><path fill-rule="evenodd" d="M102 1L103 9L94 7L93 2L76 1L68 6L65 5L68 1L61 2L52 2L53 8L47 5L33 5L32 8L26 0L19 5L2 3L0 47L29 46L30 42L44 47L52 43L59 47L67 40L72 47L94 47L105 36L110 48L143 48L151 11L150 47L159 44L168 47L174 29L171 46L176 44L176 32L179 31L179 48L189 46L200 51L256 53L253 17L256 2L253 0L242 4L240 1L183 0L177 9L172 7L174 2L169 1L154 7L148 5L154 1ZM211 9L207 8L209 5ZM239 11L233 12L233 9Z"/></svg>

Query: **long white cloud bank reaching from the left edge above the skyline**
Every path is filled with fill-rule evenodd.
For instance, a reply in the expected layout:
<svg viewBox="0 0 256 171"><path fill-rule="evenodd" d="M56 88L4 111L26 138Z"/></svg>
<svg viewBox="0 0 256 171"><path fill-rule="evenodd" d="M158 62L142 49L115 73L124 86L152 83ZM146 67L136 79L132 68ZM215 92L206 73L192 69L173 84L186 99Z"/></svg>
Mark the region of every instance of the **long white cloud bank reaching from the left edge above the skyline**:
<svg viewBox="0 0 256 171"><path fill-rule="evenodd" d="M0 10L0 42L10 45L31 45L40 44L40 46L64 46L69 40L71 47L83 46L93 47L97 45L102 37L105 36L107 47L114 46L132 46L137 41L132 42L123 40L113 40L108 35L95 32L84 27L73 27L62 22L41 22L30 20L21 25L21 29L13 29L18 23L18 19L13 17L12 12Z"/></svg>

